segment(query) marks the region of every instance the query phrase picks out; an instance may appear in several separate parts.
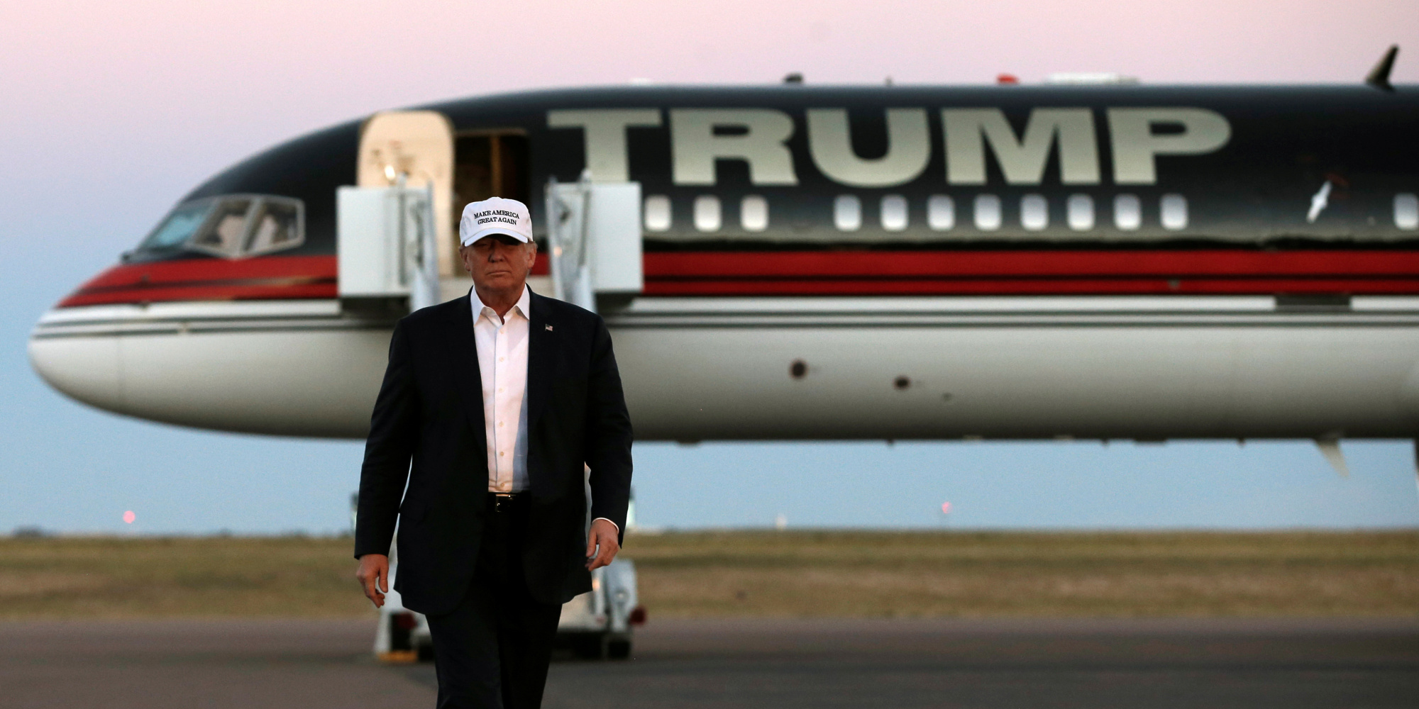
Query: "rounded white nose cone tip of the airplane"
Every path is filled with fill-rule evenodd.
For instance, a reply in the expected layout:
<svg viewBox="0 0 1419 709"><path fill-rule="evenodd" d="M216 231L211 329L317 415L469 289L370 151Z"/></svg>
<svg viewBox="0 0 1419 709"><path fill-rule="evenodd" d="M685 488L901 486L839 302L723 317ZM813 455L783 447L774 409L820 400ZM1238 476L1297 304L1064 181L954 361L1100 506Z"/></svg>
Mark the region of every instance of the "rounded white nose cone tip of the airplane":
<svg viewBox="0 0 1419 709"><path fill-rule="evenodd" d="M30 332L30 367L77 401L123 413L122 337L94 332L79 318L62 308L44 313Z"/></svg>

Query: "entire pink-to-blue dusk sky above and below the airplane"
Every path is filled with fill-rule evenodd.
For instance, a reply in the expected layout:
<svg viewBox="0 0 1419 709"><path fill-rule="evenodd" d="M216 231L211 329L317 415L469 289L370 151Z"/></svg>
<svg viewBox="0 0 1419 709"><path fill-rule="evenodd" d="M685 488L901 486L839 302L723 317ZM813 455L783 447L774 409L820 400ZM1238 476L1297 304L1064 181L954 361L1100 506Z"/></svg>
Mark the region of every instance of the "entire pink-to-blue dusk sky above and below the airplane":
<svg viewBox="0 0 1419 709"><path fill-rule="evenodd" d="M189 189L370 112L546 86L1361 81L1406 1L48 1L0 23L0 533L339 533L362 444L193 431L72 403L35 319ZM637 444L658 527L1415 527L1409 441ZM942 513L942 503L951 512ZM132 510L133 522L123 513Z"/></svg>

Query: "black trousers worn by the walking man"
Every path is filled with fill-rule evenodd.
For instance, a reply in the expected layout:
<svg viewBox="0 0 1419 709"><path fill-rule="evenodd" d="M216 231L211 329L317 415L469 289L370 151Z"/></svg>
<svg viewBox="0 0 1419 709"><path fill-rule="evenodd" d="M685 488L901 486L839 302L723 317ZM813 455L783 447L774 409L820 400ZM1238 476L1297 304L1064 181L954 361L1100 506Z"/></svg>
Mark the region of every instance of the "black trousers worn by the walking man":
<svg viewBox="0 0 1419 709"><path fill-rule="evenodd" d="M490 495L473 581L458 605L429 615L438 709L538 709L562 615L531 598L522 571L526 495Z"/></svg>

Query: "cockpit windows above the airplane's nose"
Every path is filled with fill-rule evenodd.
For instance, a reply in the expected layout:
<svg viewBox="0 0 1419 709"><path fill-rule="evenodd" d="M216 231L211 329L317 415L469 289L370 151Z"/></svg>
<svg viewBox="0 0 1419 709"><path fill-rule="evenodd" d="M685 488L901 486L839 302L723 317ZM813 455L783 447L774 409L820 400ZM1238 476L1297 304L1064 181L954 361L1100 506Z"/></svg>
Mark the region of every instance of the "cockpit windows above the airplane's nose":
<svg viewBox="0 0 1419 709"><path fill-rule="evenodd" d="M305 242L305 204L270 194L228 194L179 204L139 251L193 250L245 258Z"/></svg>

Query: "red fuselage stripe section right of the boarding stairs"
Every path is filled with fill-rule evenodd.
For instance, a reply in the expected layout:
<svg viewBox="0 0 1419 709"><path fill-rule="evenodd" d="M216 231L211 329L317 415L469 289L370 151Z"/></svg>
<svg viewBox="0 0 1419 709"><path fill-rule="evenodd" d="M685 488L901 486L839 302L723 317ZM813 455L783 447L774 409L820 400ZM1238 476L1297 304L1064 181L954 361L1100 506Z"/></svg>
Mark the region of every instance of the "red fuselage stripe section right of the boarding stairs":
<svg viewBox="0 0 1419 709"><path fill-rule="evenodd" d="M1416 251L768 251L646 255L647 295L1419 294Z"/></svg>

